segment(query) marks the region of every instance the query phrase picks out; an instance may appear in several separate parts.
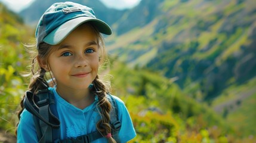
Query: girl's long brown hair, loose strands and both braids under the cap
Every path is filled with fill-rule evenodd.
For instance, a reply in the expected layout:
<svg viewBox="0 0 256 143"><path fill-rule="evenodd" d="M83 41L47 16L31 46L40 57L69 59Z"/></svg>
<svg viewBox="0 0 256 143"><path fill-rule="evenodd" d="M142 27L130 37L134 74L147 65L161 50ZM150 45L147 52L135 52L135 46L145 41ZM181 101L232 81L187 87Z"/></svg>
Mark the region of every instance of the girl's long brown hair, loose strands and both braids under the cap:
<svg viewBox="0 0 256 143"><path fill-rule="evenodd" d="M100 59L99 60L100 60L100 64L102 65L106 62L106 51L105 51L105 47L104 47L104 38L101 35L101 33L98 32L98 30L92 24L90 24L90 23L87 23L87 24L90 27L92 27L92 29L94 30L94 32L96 33L96 35L98 37L98 39L97 39L97 42L99 45L98 48L100 48ZM47 83L47 71L45 71L45 69L43 69L42 67L39 66L38 59L47 60L50 53L53 52L53 50L55 50L55 49L51 48L51 45L43 42L43 43L39 44L37 55L35 55L35 57L33 57L32 66L30 69L32 78L30 80L28 90L33 92L34 94L36 94L41 89L45 89L45 88L49 87L49 85ZM51 78L53 78L53 77L51 76ZM103 80L100 80L98 75L96 76L96 78L94 79L92 84L94 85L94 88L91 88L90 92L92 92L98 96L97 108L99 108L100 115L101 115L101 120L98 121L96 128L101 133L101 135L103 135L107 138L108 142L116 142L115 139L112 138L112 136L111 137L107 136L109 133L111 133L111 126L109 125L109 122L110 122L109 112L112 107L106 97L107 93L109 92L109 88L107 88L107 86L104 84ZM20 114L24 110L24 105L23 105L24 96L25 95L23 95L23 98L21 99L21 102L20 102L21 109L20 109L20 111L18 111L18 119L19 120L20 120ZM17 129L16 129L16 135L17 135Z"/></svg>

